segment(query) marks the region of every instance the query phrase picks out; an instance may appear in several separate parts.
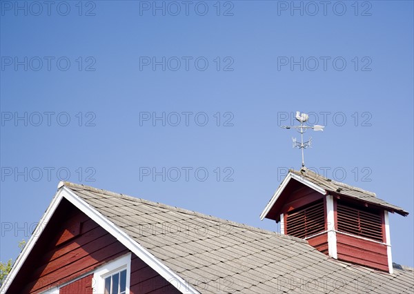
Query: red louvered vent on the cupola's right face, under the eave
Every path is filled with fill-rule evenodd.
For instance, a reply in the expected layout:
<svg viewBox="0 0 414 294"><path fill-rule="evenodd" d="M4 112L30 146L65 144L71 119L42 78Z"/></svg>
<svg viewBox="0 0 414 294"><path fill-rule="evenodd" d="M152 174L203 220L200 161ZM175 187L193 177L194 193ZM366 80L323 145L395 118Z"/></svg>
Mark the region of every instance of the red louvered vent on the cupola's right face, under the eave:
<svg viewBox="0 0 414 294"><path fill-rule="evenodd" d="M371 212L337 202L338 231L383 242L382 217Z"/></svg>

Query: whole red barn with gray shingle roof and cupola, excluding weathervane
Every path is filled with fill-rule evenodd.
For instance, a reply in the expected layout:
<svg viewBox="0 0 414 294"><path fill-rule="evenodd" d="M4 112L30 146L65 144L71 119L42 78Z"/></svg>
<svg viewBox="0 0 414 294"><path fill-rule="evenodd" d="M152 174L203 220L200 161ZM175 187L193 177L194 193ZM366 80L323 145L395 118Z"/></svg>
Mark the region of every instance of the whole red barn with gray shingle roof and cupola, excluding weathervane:
<svg viewBox="0 0 414 294"><path fill-rule="evenodd" d="M290 171L282 234L62 182L1 293L413 293L373 193Z"/></svg>

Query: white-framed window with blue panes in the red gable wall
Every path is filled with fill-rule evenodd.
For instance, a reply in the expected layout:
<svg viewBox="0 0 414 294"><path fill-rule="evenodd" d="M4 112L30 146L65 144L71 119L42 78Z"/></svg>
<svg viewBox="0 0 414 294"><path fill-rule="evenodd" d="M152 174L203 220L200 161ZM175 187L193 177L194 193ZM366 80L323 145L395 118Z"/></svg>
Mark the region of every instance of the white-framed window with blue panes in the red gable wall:
<svg viewBox="0 0 414 294"><path fill-rule="evenodd" d="M131 254L128 253L108 264L104 264L94 273L94 293L129 294Z"/></svg>

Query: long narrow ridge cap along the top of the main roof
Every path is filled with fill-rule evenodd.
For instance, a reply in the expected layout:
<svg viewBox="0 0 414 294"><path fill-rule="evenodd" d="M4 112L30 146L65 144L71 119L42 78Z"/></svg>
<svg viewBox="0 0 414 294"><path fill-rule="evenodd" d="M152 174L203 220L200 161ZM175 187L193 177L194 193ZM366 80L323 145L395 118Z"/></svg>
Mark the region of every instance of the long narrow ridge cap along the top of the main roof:
<svg viewBox="0 0 414 294"><path fill-rule="evenodd" d="M233 222L229 219L222 219L220 217L215 217L213 215L206 215L204 213L199 213L199 212L194 211L194 210L179 208L177 206L170 206L168 204L153 202L153 201L150 201L150 200L147 200L147 199L137 198L137 197L133 197L133 196L126 195L126 194L121 194L121 193L115 193L115 192L112 192L112 191L109 191L109 190L99 189L99 188L95 188L95 187L87 186L87 185L83 185L83 184L75 184L75 183L72 183L72 182L59 182L58 188L61 188L62 186L67 186L68 188L71 188L71 187L72 188L79 188L79 189L82 189L82 190L88 190L88 191L95 192L95 193L101 193L103 195L108 195L108 196L112 196L112 197L128 198L128 199L131 199L133 201L141 202L141 203L144 203L144 204L148 204L148 205L152 205L152 206L158 206L158 207L161 207L161 208L168 208L170 210L175 210L179 213L186 213L186 214L189 214L189 215L194 215L196 217L202 217L204 219L210 219L210 220L213 220L215 222L226 223L229 226L236 226L238 228L245 228L248 231L254 231L254 232L259 232L259 233L266 233L266 234L270 234L270 235L276 235L277 237L282 237L284 239L290 239L290 240L293 240L293 241L296 241L296 242L308 244L308 241L306 241L304 239L300 239L298 237L293 237L293 236L290 236L290 235L283 235L283 234L280 234L280 233L277 233L277 232L274 232L274 231L268 231L268 230L263 229L263 228L257 228L255 226L250 226L248 224Z"/></svg>

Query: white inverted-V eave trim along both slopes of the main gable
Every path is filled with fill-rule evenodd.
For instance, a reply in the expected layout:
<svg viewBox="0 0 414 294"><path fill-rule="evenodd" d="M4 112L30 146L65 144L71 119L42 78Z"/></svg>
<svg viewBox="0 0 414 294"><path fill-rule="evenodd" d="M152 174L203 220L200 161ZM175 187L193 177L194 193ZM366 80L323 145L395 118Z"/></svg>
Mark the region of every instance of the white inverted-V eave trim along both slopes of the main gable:
<svg viewBox="0 0 414 294"><path fill-rule="evenodd" d="M132 253L135 253L137 257L142 259L142 261L148 264L148 266L150 266L154 271L159 273L161 277L164 277L164 279L166 279L170 284L172 284L172 286L175 286L175 288L177 288L178 291L180 291L181 293L199 293L199 291L193 288L193 286L186 282L186 280L179 277L179 275L177 275L170 268L168 268L168 266L163 264L159 259L157 259L157 257L149 253L143 246L141 246L138 242L132 239L132 237L130 237L124 231L121 231L121 229L118 226L110 222L109 219L107 219L105 216L99 213L95 208L90 206L83 199L81 199L75 193L73 193L72 190L70 190L70 188L67 188L66 186L61 186L60 183L57 194L55 195L54 199L52 200L52 203L50 204L48 210L46 210L46 213L45 215L43 215L41 222L39 224L45 224L48 222L48 220L52 217L53 213L55 213L55 210L63 197L68 199L70 203L79 208L79 210L88 215L90 219L97 222L99 226L108 231L108 233L114 236L119 242L124 244L126 248L132 251ZM12 283L14 277L16 277L22 264L30 254L30 251L32 250L34 244L36 244L37 239L39 239L39 236L43 232L44 227L45 226L39 227L39 233L33 234L28 244L26 244L25 248L23 249L23 252L21 253L21 255L19 255L17 261L14 263L12 271L10 271L10 274L8 276L8 280L10 280L10 282L5 282L5 284L3 284L3 286L1 287L1 294L6 293L8 286Z"/></svg>

